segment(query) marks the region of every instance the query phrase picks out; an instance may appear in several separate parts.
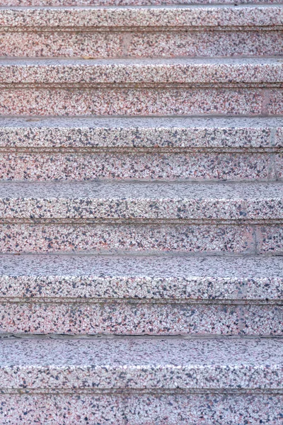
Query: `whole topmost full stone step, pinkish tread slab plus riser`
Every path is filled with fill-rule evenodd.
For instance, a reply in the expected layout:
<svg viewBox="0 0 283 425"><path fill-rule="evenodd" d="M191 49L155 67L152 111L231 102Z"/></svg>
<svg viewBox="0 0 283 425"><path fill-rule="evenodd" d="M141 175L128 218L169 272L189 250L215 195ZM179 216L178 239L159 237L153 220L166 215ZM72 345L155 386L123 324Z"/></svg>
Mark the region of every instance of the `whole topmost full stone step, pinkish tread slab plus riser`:
<svg viewBox="0 0 283 425"><path fill-rule="evenodd" d="M0 56L277 56L282 24L280 6L0 8Z"/></svg>

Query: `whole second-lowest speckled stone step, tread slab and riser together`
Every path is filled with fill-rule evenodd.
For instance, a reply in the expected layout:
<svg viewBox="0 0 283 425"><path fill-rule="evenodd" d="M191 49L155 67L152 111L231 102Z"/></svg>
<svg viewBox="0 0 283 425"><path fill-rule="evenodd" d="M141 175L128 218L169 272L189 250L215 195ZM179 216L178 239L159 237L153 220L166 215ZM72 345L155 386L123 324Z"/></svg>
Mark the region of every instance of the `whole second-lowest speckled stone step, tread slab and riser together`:
<svg viewBox="0 0 283 425"><path fill-rule="evenodd" d="M283 335L282 256L1 255L1 334Z"/></svg>

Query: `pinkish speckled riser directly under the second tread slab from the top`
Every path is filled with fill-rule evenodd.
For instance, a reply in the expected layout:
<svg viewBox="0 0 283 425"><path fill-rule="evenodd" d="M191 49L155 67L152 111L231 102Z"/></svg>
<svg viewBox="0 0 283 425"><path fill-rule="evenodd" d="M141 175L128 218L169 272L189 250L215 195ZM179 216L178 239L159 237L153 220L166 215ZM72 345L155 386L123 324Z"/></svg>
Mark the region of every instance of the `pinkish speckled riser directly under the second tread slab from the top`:
<svg viewBox="0 0 283 425"><path fill-rule="evenodd" d="M280 115L281 89L3 89L0 115Z"/></svg>

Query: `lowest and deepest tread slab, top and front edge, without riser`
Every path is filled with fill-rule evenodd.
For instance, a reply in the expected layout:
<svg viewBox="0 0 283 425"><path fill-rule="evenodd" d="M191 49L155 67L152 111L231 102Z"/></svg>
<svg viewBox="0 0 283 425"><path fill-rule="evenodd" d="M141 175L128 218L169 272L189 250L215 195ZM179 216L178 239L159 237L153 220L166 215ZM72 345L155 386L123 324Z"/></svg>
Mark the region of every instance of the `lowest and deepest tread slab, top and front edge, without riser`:
<svg viewBox="0 0 283 425"><path fill-rule="evenodd" d="M4 339L4 388L282 389L278 339Z"/></svg>

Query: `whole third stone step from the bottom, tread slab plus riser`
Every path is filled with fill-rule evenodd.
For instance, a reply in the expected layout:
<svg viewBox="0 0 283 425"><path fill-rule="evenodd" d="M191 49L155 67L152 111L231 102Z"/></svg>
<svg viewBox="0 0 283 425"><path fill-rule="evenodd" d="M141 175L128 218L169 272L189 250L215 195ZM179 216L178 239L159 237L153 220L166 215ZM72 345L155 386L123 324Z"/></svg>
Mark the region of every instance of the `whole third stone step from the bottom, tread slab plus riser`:
<svg viewBox="0 0 283 425"><path fill-rule="evenodd" d="M280 182L2 182L0 196L3 253L283 251Z"/></svg>

